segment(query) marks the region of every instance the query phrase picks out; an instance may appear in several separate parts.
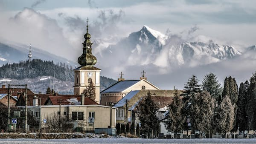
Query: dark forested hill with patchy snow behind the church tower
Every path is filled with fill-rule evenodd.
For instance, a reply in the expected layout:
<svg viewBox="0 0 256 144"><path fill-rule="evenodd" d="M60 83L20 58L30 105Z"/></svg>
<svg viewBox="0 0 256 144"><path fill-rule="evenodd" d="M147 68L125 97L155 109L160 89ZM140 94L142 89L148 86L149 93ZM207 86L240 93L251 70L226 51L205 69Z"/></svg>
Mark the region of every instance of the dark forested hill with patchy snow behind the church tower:
<svg viewBox="0 0 256 144"><path fill-rule="evenodd" d="M49 78L52 78L52 83L53 79L55 79L56 84L57 80L59 82L64 81L71 83L73 83L74 81L73 67L65 63L55 64L53 61L33 59L31 60L31 62L29 62L29 60L26 60L20 61L20 63L8 63L0 67L0 78L2 79L1 81L5 81L4 79L6 78L11 78L12 82L26 80L26 82L31 83L31 86L33 86L33 81L35 82L35 80L37 79L38 81L40 80L41 83L43 83L43 80L46 81L45 78L42 78L43 76L49 76ZM108 86L111 86L112 84L116 83L116 80L101 76L100 82L101 89L106 89ZM45 87L43 89L46 89L47 86L50 86L49 84L50 81L45 82ZM40 88L34 87L34 90L38 91L38 89L42 89L43 85L41 85ZM73 89L72 86L70 87L70 90L71 89Z"/></svg>

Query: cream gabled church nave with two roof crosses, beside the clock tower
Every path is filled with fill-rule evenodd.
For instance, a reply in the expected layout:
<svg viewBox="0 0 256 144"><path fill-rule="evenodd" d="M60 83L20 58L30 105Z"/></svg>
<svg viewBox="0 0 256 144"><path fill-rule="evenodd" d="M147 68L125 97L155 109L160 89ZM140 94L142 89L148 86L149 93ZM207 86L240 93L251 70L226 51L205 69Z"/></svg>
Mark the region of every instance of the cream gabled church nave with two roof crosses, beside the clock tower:
<svg viewBox="0 0 256 144"><path fill-rule="evenodd" d="M116 84L113 84L100 93L100 104L105 106L108 106L109 103L116 104L129 92L141 89L160 90L157 86L147 81L147 78L145 77L141 77L140 80L128 81L125 81L124 78L119 78L119 81Z"/></svg>

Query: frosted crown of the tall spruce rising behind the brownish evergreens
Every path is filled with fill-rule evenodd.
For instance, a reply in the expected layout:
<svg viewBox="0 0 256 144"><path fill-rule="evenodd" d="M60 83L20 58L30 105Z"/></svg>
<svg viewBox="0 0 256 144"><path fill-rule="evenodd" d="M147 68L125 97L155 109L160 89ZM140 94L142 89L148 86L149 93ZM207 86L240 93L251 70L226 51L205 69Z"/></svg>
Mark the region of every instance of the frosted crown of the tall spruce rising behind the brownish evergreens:
<svg viewBox="0 0 256 144"><path fill-rule="evenodd" d="M216 75L213 73L209 73L204 76L202 81L202 89L209 92L216 101L218 101L218 98L221 96L221 84L219 84Z"/></svg>

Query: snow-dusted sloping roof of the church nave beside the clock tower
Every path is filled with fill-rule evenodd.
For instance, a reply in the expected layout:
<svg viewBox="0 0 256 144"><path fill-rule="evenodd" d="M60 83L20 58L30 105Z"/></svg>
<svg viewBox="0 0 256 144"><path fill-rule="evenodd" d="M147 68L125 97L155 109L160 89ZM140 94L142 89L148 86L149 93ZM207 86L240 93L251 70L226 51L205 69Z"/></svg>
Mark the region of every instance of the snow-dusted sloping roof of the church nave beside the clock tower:
<svg viewBox="0 0 256 144"><path fill-rule="evenodd" d="M116 84L113 84L112 86L103 90L101 93L122 92L125 89L129 88L130 86L133 86L134 84L136 84L139 81L140 80L119 81Z"/></svg>

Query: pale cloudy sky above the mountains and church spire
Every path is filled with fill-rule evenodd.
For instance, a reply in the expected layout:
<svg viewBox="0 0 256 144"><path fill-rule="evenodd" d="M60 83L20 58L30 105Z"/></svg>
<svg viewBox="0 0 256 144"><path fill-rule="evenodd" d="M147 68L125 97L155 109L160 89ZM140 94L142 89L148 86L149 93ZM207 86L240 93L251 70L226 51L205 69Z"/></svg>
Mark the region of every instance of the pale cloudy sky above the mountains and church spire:
<svg viewBox="0 0 256 144"><path fill-rule="evenodd" d="M0 42L31 43L76 61L87 17L91 39L114 41L147 25L163 34L194 27L193 35L239 51L256 44L256 0L1 0Z"/></svg>

